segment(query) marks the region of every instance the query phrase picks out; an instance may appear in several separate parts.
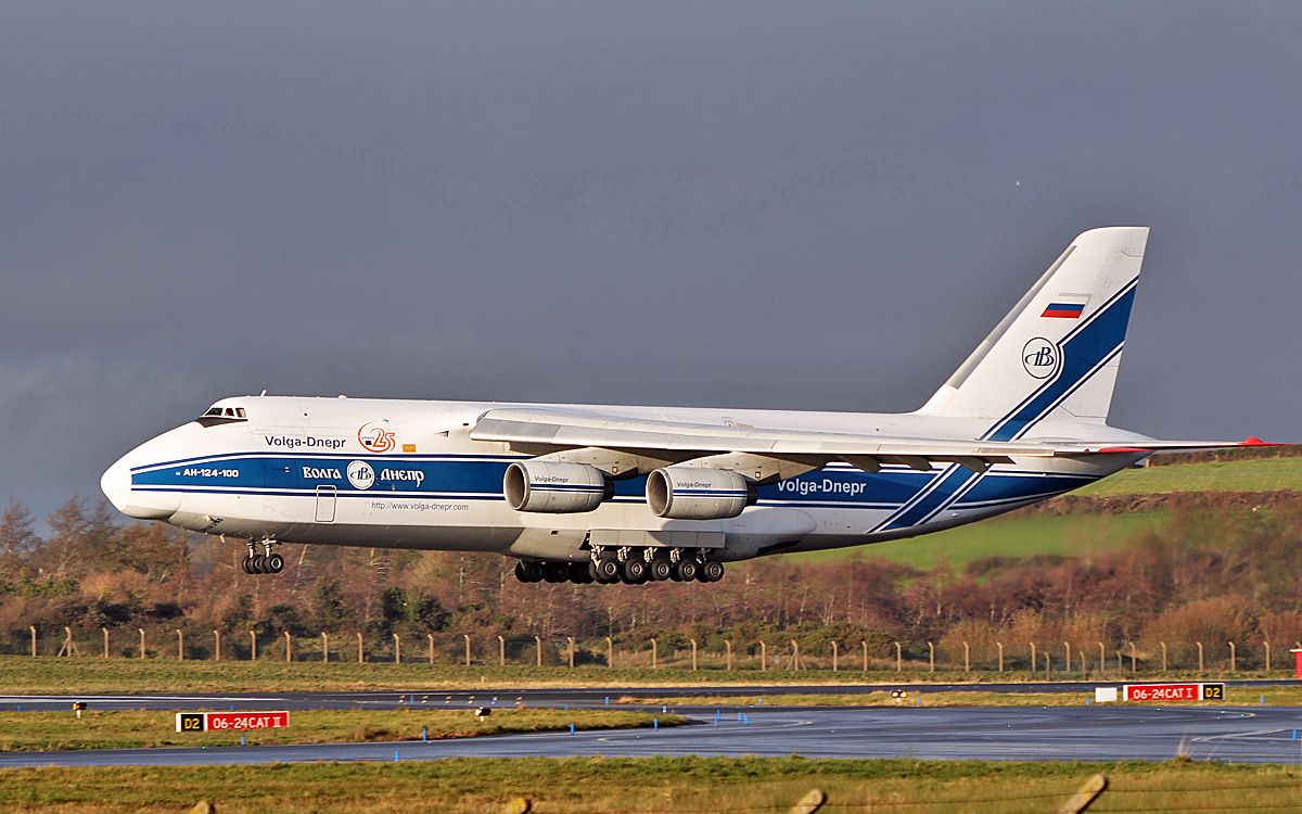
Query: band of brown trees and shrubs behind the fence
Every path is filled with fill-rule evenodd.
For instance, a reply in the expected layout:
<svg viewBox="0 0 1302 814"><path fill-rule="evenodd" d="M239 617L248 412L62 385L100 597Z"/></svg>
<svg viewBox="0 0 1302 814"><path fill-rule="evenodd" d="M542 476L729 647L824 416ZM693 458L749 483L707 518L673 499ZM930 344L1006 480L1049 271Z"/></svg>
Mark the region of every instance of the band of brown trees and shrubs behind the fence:
<svg viewBox="0 0 1302 814"><path fill-rule="evenodd" d="M893 656L898 641L906 659L924 660L932 642L937 662L948 664L962 664L966 642L974 667L990 666L1003 642L1010 668L1025 667L1031 642L1055 647L1055 659L1068 642L1091 659L1099 642L1109 659L1122 647L1129 659L1134 642L1138 658L1155 659L1167 642L1172 666L1190 666L1200 641L1211 667L1225 662L1234 641L1238 667L1251 668L1266 639L1282 667L1282 651L1302 637L1302 505L1292 494L1182 495L1161 505L1170 518L1157 531L1091 556L990 557L962 570L918 570L866 548L840 563L734 565L717 585L603 587L521 585L513 561L496 556L312 546L288 546L279 577L250 577L234 540L120 524L105 505L82 500L57 509L42 537L13 504L0 517L0 651L25 653L35 625L52 654L72 625L121 632L113 637L118 655L135 655L137 628L160 651L180 628L193 633L189 658L208 655L216 629L229 634L228 658L249 658L249 630L264 641L285 630L337 639L362 630L372 642L392 633L423 642L434 633L440 653L457 653L462 633L496 651L501 634L509 658L526 663L534 636L577 637L579 663L600 662L607 636L621 651L641 651L656 637L661 656L693 638L713 653L729 638L738 656L766 638L797 639L803 653L820 654L814 666L832 641L841 642L846 664L861 639L879 659ZM548 649L549 662L559 656Z"/></svg>

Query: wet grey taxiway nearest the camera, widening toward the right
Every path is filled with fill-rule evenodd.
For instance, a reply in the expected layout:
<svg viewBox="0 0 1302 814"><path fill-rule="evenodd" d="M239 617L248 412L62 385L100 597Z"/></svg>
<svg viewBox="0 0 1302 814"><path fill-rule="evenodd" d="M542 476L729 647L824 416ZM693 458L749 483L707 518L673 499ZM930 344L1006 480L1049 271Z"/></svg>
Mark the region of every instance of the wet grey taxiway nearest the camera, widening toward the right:
<svg viewBox="0 0 1302 814"><path fill-rule="evenodd" d="M443 741L0 754L17 766L195 766L452 757L790 757L1302 762L1293 707L887 707L693 712L693 724ZM749 720L749 723L746 723Z"/></svg>

